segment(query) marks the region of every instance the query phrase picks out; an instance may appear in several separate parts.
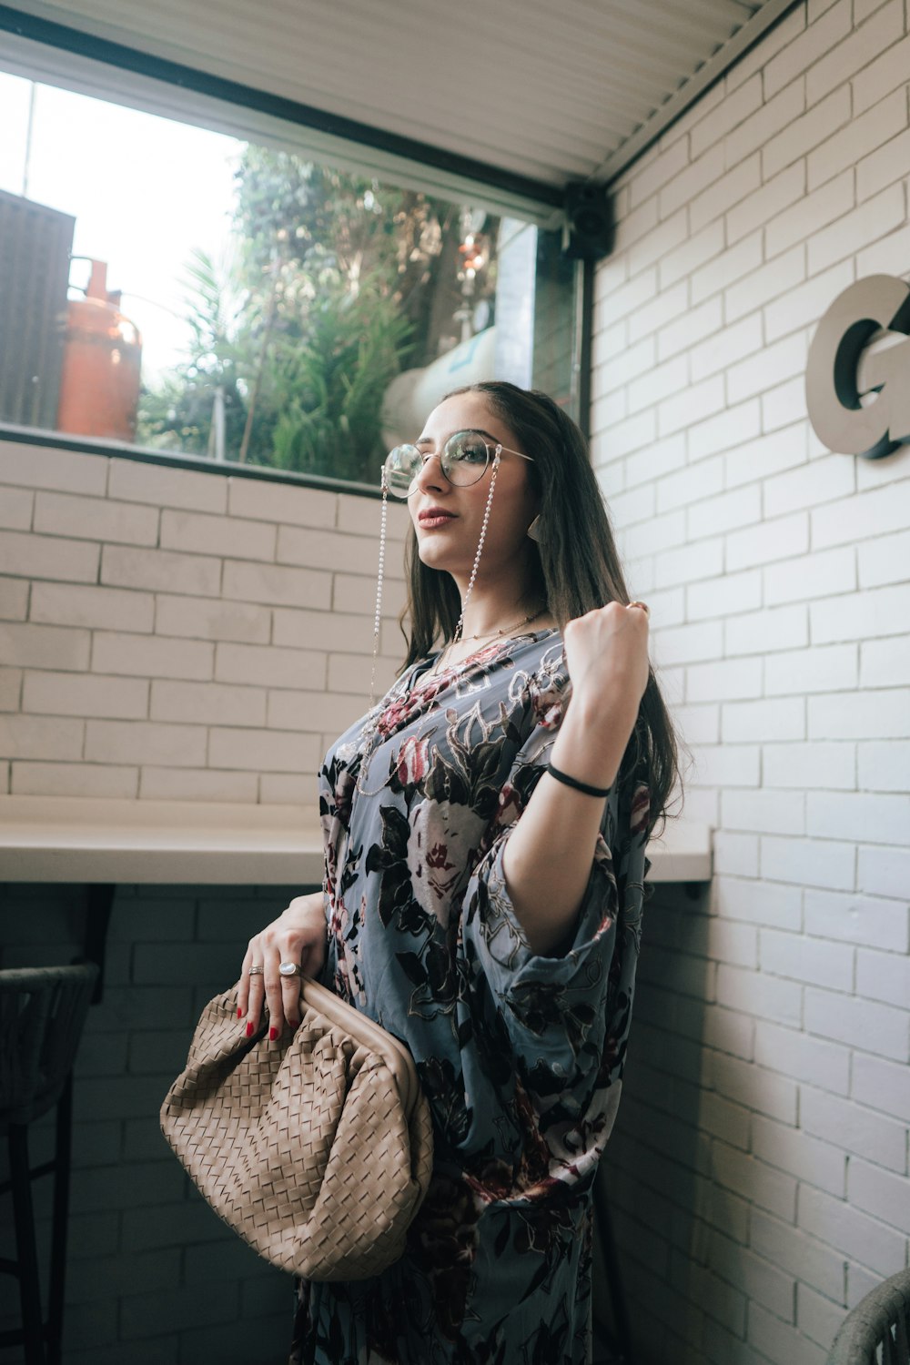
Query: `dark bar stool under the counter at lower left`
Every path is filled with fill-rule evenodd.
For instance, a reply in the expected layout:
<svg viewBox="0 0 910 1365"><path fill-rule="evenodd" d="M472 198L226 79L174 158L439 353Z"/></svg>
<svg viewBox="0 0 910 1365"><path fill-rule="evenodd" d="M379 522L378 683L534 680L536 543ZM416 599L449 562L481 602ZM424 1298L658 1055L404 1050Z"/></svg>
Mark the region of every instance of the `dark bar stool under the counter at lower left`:
<svg viewBox="0 0 910 1365"><path fill-rule="evenodd" d="M0 1332L0 1346L25 1346L25 1365L59 1365L70 1208L72 1065L89 1011L98 968L12 968L0 972L0 1132L10 1147L16 1259L0 1257L0 1271L19 1280L22 1328ZM52 1160L29 1163L29 1123L56 1104ZM31 1205L31 1182L53 1173L50 1283L48 1320L41 1312L41 1280Z"/></svg>

